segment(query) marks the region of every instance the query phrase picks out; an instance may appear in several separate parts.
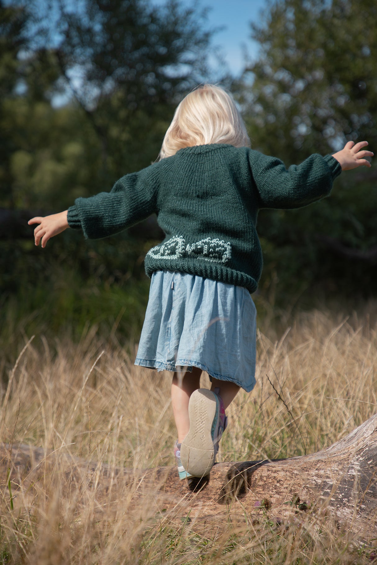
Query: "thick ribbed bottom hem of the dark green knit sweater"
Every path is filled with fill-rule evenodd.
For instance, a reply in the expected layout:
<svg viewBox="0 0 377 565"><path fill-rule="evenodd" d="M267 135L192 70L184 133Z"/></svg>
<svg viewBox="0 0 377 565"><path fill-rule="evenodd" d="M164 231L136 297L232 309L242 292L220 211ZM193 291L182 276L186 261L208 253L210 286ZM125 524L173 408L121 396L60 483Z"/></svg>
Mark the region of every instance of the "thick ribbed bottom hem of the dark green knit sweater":
<svg viewBox="0 0 377 565"><path fill-rule="evenodd" d="M149 278L154 271L163 271L165 269L167 271L190 273L191 275L201 276L204 279L218 280L236 286L244 286L250 293L255 292L258 288L258 282L252 276L209 261L191 258L153 259L149 255L145 257L145 272Z"/></svg>

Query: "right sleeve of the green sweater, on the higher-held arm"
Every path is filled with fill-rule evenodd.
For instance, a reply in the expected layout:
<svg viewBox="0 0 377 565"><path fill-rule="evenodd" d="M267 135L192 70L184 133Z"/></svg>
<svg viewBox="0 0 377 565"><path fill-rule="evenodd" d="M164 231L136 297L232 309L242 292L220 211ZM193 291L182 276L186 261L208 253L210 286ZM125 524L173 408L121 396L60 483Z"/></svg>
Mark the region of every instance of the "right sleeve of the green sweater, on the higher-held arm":
<svg viewBox="0 0 377 565"><path fill-rule="evenodd" d="M328 196L341 173L332 155L310 155L300 165L286 169L280 159L249 150L249 164L261 208L306 206Z"/></svg>

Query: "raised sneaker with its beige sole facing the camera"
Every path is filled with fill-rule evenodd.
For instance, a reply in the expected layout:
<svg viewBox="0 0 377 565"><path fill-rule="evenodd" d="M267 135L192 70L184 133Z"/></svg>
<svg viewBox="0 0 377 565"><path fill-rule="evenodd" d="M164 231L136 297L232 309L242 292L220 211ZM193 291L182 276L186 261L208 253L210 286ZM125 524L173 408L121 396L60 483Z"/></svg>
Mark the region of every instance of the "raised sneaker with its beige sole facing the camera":
<svg viewBox="0 0 377 565"><path fill-rule="evenodd" d="M218 393L218 388L215 392L198 389L190 396L190 429L181 444L180 459L194 477L205 477L210 473L227 427L224 402Z"/></svg>

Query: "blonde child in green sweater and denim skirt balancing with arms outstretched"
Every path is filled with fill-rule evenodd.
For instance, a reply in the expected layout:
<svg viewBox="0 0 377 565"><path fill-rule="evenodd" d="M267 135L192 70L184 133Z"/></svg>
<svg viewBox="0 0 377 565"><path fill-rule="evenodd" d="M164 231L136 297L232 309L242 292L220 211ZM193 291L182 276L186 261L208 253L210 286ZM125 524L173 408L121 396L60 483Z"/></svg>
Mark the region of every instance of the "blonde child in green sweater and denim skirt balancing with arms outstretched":
<svg viewBox="0 0 377 565"><path fill-rule="evenodd" d="M179 477L206 476L240 387L255 384L255 307L262 251L259 208L296 208L324 196L342 170L370 163L366 141L314 154L285 169L250 149L231 95L203 85L176 108L159 160L122 177L110 193L77 198L33 218L35 244L68 226L107 237L155 212L166 233L145 258L149 302L135 364L174 372L171 398ZM206 371L211 390L200 389ZM184 378L183 378L184 377Z"/></svg>

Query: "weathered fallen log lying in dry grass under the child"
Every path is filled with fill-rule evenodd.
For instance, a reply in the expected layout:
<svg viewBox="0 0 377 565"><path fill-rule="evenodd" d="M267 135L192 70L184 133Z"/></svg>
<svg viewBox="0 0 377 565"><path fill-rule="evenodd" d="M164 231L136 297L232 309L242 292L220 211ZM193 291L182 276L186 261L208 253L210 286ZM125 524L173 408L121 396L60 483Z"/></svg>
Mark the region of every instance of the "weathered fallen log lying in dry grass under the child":
<svg viewBox="0 0 377 565"><path fill-rule="evenodd" d="M175 467L130 471L73 458L63 451L45 453L41 447L0 445L3 492L9 480L16 493L22 484L43 480L57 465L77 488L90 489L95 484L106 496L109 485L112 490L132 487L136 504L145 504L150 493L154 503L158 497L164 511L174 510L177 516L190 515L207 524L214 519L223 521L225 509L235 518L246 513L250 520L261 511L284 520L292 512L328 509L346 529L364 539L377 534L377 415L318 453L217 463L209 477L191 485L177 480Z"/></svg>

